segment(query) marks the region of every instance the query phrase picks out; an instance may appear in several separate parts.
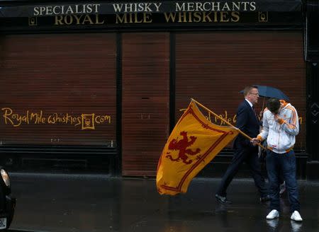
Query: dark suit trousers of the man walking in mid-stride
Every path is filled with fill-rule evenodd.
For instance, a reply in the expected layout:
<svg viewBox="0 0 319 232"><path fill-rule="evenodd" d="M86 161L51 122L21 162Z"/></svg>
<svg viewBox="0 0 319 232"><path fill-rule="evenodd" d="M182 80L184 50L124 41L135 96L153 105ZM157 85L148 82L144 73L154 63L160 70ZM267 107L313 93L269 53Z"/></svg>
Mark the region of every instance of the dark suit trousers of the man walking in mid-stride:
<svg viewBox="0 0 319 232"><path fill-rule="evenodd" d="M226 197L228 185L237 174L241 164L245 162L250 169L250 174L254 179L254 185L256 185L260 197L266 197L268 190L262 177L262 171L258 160L258 148L257 146L237 146L233 156L232 163L228 166L226 173L223 175L223 179L217 190L217 194Z"/></svg>

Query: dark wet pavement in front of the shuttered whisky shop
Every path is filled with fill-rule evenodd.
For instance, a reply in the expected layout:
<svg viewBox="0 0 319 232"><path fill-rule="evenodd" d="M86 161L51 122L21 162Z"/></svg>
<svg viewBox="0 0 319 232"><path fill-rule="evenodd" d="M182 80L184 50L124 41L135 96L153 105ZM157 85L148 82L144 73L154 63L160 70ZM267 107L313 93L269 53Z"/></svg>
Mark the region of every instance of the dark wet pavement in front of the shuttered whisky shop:
<svg viewBox="0 0 319 232"><path fill-rule="evenodd" d="M303 222L290 220L281 199L278 220L265 219L251 179L235 179L228 188L231 205L216 202L220 179L196 178L175 197L157 193L154 179L108 175L10 173L16 214L10 231L319 231L319 182L298 181Z"/></svg>

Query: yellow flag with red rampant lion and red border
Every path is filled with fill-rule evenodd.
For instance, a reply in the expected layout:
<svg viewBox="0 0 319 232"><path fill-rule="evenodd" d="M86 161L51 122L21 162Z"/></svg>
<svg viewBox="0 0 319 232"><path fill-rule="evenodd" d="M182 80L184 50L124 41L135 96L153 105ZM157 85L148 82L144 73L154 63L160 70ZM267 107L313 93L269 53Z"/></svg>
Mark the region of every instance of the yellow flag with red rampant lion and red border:
<svg viewBox="0 0 319 232"><path fill-rule="evenodd" d="M235 127L210 122L191 101L169 135L159 158L156 177L159 194L186 192L191 180L237 134Z"/></svg>

